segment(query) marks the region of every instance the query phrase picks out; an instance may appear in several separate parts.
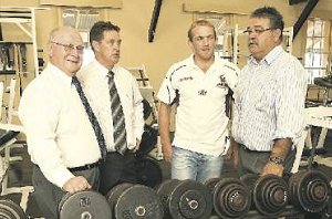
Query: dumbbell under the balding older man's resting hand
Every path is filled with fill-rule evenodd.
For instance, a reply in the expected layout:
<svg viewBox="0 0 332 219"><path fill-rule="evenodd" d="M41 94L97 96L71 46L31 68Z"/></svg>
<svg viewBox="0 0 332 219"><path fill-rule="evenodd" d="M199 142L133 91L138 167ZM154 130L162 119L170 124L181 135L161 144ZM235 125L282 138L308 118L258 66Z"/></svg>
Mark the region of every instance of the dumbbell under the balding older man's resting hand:
<svg viewBox="0 0 332 219"><path fill-rule="evenodd" d="M105 197L93 190L66 194L58 206L58 213L60 219L112 219Z"/></svg>

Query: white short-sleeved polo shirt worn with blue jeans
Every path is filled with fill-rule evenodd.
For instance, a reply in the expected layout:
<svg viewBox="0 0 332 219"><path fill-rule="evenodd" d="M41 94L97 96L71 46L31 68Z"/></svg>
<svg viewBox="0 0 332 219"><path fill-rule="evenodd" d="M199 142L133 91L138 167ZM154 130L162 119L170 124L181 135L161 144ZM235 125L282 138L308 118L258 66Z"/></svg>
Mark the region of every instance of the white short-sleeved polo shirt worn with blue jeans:
<svg viewBox="0 0 332 219"><path fill-rule="evenodd" d="M238 72L235 64L217 56L206 73L193 55L170 66L157 97L172 104L179 96L173 145L206 155L225 153L229 144L226 95L234 90Z"/></svg>

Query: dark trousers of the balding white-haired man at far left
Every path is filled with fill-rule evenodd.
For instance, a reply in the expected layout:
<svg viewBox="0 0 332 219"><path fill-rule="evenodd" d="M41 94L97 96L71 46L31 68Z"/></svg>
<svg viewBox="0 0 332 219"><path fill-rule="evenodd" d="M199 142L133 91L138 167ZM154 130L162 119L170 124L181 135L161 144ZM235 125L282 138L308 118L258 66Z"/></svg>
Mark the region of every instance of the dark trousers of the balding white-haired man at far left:
<svg viewBox="0 0 332 219"><path fill-rule="evenodd" d="M94 190L98 189L100 170L97 167L82 171L74 171L73 175L85 177ZM32 197L42 212L40 217L58 219L58 206L66 192L50 182L38 166L33 168L32 185L34 189Z"/></svg>

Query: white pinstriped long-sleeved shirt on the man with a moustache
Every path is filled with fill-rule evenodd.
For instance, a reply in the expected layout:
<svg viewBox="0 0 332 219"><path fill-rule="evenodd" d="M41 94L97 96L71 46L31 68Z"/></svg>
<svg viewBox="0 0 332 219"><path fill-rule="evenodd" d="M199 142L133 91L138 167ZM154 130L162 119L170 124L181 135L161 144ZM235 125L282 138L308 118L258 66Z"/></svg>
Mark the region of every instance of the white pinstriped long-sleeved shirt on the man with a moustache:
<svg viewBox="0 0 332 219"><path fill-rule="evenodd" d="M270 152L277 138L295 145L304 127L307 75L301 63L276 46L259 63L251 56L235 90L235 139Z"/></svg>

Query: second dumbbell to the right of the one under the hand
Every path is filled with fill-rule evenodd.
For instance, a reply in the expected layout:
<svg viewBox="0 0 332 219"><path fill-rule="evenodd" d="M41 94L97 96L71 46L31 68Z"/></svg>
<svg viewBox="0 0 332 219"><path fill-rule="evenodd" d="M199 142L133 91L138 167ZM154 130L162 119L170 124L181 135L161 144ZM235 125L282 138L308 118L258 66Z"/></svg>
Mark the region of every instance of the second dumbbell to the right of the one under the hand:
<svg viewBox="0 0 332 219"><path fill-rule="evenodd" d="M168 179L157 188L165 219L207 219L212 211L212 197L203 184L186 179Z"/></svg>

